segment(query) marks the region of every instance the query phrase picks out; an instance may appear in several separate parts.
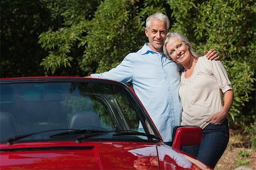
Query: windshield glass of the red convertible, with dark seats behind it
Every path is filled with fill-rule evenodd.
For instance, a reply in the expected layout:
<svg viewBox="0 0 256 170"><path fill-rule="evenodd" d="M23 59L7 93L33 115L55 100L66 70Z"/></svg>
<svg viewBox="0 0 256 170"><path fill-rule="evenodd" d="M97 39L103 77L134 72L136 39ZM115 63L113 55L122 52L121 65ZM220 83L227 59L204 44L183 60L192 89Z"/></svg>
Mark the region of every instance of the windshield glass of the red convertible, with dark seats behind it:
<svg viewBox="0 0 256 170"><path fill-rule="evenodd" d="M141 106L121 85L97 81L2 83L1 142L31 133L35 134L20 141L68 141L85 131L112 132L90 134L92 137L86 138L92 140L155 140L147 136L156 135L156 132L152 130L152 124L148 123ZM69 129L85 131L64 133L71 131ZM139 133L113 134L113 131L131 130L146 136Z"/></svg>

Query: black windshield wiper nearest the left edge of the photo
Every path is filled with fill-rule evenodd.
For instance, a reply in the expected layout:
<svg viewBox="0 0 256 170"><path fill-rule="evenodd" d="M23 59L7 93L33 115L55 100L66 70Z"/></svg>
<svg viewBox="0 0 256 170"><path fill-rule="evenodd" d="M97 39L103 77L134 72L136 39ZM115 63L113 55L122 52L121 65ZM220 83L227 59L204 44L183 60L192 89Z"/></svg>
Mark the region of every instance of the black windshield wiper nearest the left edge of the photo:
<svg viewBox="0 0 256 170"><path fill-rule="evenodd" d="M85 131L87 131L87 130L77 130L77 129L52 129L52 130L38 131L38 132L35 132L35 133L23 134L23 135L18 135L18 136L15 136L15 137L8 138L7 139L7 145L13 145L13 142L19 141L19 139L30 137L30 136L35 135L35 134L46 133L46 132L49 132L49 131L58 131L58 130L70 130L67 133L84 133Z"/></svg>

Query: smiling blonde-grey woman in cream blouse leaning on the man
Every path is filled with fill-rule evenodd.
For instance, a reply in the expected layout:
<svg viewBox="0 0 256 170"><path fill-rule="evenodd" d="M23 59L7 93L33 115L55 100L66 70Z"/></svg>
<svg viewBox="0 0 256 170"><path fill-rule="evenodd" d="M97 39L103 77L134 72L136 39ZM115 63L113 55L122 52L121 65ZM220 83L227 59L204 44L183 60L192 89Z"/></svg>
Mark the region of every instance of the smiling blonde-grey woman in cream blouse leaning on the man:
<svg viewBox="0 0 256 170"><path fill-rule="evenodd" d="M181 125L203 128L201 145L182 149L214 168L229 141L226 117L233 103L233 89L228 74L220 61L199 57L179 33L168 33L163 48L168 58L184 67L179 90L183 107Z"/></svg>

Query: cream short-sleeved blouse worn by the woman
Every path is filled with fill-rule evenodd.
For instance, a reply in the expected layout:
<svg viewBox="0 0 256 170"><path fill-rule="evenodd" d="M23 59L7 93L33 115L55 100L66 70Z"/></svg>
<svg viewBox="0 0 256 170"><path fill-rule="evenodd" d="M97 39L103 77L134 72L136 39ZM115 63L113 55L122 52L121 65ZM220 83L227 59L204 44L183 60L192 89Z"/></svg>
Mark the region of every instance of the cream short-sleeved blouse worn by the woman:
<svg viewBox="0 0 256 170"><path fill-rule="evenodd" d="M232 90L228 74L220 61L199 57L190 78L181 74L179 95L183 107L181 125L205 128L207 118L223 108L222 93Z"/></svg>

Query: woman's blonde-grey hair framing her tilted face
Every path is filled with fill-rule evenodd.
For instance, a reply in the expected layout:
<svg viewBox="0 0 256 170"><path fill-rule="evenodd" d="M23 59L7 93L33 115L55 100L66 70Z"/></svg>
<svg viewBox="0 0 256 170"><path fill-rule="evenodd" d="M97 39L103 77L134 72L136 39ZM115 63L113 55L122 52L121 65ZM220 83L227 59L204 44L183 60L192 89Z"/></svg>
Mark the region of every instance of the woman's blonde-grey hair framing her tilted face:
<svg viewBox="0 0 256 170"><path fill-rule="evenodd" d="M164 45L163 45L163 52L164 52L164 54L166 54L167 58L172 59L166 50L166 44L168 43L168 41L170 39L172 39L174 37L177 37L181 42L184 42L186 45L188 45L188 50L193 57L195 57L196 59L198 59L200 57L199 54L197 54L195 52L195 50L192 48L191 42L188 41L187 37L185 37L184 35L181 35L180 33L177 33L177 32L169 32L166 35L166 40L164 41Z"/></svg>

